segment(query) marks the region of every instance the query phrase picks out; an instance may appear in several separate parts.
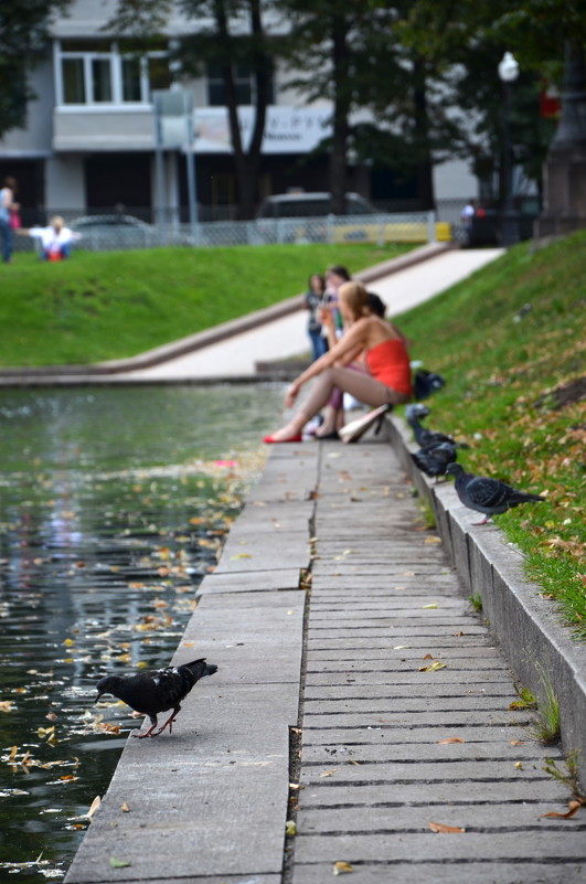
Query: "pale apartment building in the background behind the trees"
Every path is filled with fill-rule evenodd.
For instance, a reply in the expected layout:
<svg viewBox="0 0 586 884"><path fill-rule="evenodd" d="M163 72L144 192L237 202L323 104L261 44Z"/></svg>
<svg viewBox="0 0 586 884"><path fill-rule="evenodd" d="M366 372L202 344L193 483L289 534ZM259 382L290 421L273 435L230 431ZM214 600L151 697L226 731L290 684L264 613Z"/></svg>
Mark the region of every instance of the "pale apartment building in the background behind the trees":
<svg viewBox="0 0 586 884"><path fill-rule="evenodd" d="M0 177L13 174L26 215L34 212L126 211L150 221L157 201L187 217L187 149L195 159L196 199L202 217L220 217L236 202L236 175L220 72L190 83L173 83L169 50L185 32L175 15L160 45L140 57L122 52L104 25L116 0L75 0L70 13L53 22L51 47L32 75L36 99L29 106L25 129L0 140ZM190 25L192 23L190 22ZM177 72L175 72L177 75ZM258 200L291 188L323 190L328 159L310 156L328 135L330 106L307 106L287 86L288 73L277 68L273 103L267 114ZM153 92L172 87L192 94L191 146L162 152L163 187L157 182ZM252 128L253 82L237 71L241 128ZM476 179L461 162L436 170L438 198L466 199L476 193ZM416 203L413 182L392 169L350 167L350 189L374 201ZM31 217L31 220L34 220Z"/></svg>

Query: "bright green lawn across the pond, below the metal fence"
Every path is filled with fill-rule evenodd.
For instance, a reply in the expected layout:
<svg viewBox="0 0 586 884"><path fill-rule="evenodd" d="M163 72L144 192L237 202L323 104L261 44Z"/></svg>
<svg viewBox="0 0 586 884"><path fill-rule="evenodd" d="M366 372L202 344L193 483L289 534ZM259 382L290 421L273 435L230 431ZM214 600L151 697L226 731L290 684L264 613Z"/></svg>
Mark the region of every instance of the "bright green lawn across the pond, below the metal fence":
<svg viewBox="0 0 586 884"><path fill-rule="evenodd" d="M311 273L352 273L412 246L241 246L77 252L0 265L0 366L132 356L298 295Z"/></svg>

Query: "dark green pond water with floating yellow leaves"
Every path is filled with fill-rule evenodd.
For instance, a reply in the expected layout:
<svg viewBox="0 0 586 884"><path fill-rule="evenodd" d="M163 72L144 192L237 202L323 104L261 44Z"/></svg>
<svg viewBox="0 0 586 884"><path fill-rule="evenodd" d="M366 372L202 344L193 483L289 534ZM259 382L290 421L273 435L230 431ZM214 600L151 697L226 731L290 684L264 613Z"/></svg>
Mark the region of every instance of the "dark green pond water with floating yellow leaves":
<svg viewBox="0 0 586 884"><path fill-rule="evenodd" d="M168 664L281 403L278 385L0 391L0 881L65 875L140 724L95 685Z"/></svg>

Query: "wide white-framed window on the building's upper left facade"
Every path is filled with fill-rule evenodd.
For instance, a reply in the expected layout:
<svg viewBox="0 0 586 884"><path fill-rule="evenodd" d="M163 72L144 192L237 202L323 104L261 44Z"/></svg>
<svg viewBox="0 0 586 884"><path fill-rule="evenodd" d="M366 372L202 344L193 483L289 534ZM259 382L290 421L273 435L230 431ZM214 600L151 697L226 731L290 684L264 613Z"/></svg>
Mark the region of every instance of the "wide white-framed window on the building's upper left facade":
<svg viewBox="0 0 586 884"><path fill-rule="evenodd" d="M109 41L65 40L55 45L58 100L65 105L148 104L152 89L167 89L172 77L169 52L128 54Z"/></svg>

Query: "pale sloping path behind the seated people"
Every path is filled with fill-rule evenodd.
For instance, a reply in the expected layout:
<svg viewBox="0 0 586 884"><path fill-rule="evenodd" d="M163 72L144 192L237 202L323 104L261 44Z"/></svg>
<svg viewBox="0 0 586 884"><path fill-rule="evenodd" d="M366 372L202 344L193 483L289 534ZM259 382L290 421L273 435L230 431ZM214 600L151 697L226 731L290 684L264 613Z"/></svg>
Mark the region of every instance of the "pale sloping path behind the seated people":
<svg viewBox="0 0 586 884"><path fill-rule="evenodd" d="M387 303L388 316L397 316L445 291L502 254L502 248L455 249L382 277L369 287ZM136 381L242 377L256 373L258 360L287 359L307 351L306 315L301 310L150 369L117 376Z"/></svg>

